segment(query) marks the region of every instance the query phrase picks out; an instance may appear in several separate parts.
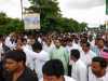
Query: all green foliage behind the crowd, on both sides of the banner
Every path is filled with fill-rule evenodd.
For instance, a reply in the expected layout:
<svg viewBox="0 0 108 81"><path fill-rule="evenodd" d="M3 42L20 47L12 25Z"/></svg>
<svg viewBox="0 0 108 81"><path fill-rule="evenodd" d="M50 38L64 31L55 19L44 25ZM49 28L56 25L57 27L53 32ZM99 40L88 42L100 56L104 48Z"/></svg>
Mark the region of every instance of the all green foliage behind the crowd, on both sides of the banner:
<svg viewBox="0 0 108 81"><path fill-rule="evenodd" d="M78 32L83 31L86 23L79 23L73 18L63 17L57 0L29 0L31 6L27 10L40 13L41 31ZM17 18L8 17L0 13L0 35L12 31L23 31L24 23Z"/></svg>

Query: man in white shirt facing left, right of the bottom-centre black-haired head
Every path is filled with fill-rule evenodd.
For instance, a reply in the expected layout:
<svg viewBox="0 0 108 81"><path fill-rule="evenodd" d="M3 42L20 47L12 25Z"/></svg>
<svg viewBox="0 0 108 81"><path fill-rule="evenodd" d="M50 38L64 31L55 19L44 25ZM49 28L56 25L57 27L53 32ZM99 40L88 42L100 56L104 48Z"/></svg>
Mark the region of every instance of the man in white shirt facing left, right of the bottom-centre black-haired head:
<svg viewBox="0 0 108 81"><path fill-rule="evenodd" d="M72 65L71 77L77 81L87 81L86 66L80 59L80 52L78 50L71 50L70 59Z"/></svg>

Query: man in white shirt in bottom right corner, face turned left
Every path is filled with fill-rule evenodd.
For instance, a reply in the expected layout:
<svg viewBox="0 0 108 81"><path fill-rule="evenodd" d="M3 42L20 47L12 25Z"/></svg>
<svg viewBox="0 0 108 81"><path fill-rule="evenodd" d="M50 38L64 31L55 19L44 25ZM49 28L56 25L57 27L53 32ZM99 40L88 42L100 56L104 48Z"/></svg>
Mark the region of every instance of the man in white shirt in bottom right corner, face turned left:
<svg viewBox="0 0 108 81"><path fill-rule="evenodd" d="M89 68L89 81L108 81L108 64L103 57L94 57Z"/></svg>

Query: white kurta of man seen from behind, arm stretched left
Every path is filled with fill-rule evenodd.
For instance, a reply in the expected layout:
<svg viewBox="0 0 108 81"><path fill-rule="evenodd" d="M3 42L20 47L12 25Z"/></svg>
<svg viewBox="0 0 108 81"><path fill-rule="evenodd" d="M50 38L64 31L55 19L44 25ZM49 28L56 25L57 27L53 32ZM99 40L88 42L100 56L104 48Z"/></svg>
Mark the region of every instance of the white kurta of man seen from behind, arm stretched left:
<svg viewBox="0 0 108 81"><path fill-rule="evenodd" d="M23 50L27 56L26 64L37 72L39 79L42 78L42 66L50 59L49 53L43 50L40 53L36 53L26 48L23 48Z"/></svg>

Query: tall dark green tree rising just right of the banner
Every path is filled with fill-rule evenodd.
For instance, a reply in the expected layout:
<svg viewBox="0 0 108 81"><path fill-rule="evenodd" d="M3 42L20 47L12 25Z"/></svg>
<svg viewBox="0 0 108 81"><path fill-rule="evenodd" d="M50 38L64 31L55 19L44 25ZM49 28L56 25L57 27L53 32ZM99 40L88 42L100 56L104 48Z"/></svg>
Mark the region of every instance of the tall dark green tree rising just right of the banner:
<svg viewBox="0 0 108 81"><path fill-rule="evenodd" d="M58 2L56 0L29 0L29 1L32 4L30 8L36 6L36 10L38 9L38 12L40 13L41 30L42 31L55 30L56 17L62 16L60 10L57 6Z"/></svg>

